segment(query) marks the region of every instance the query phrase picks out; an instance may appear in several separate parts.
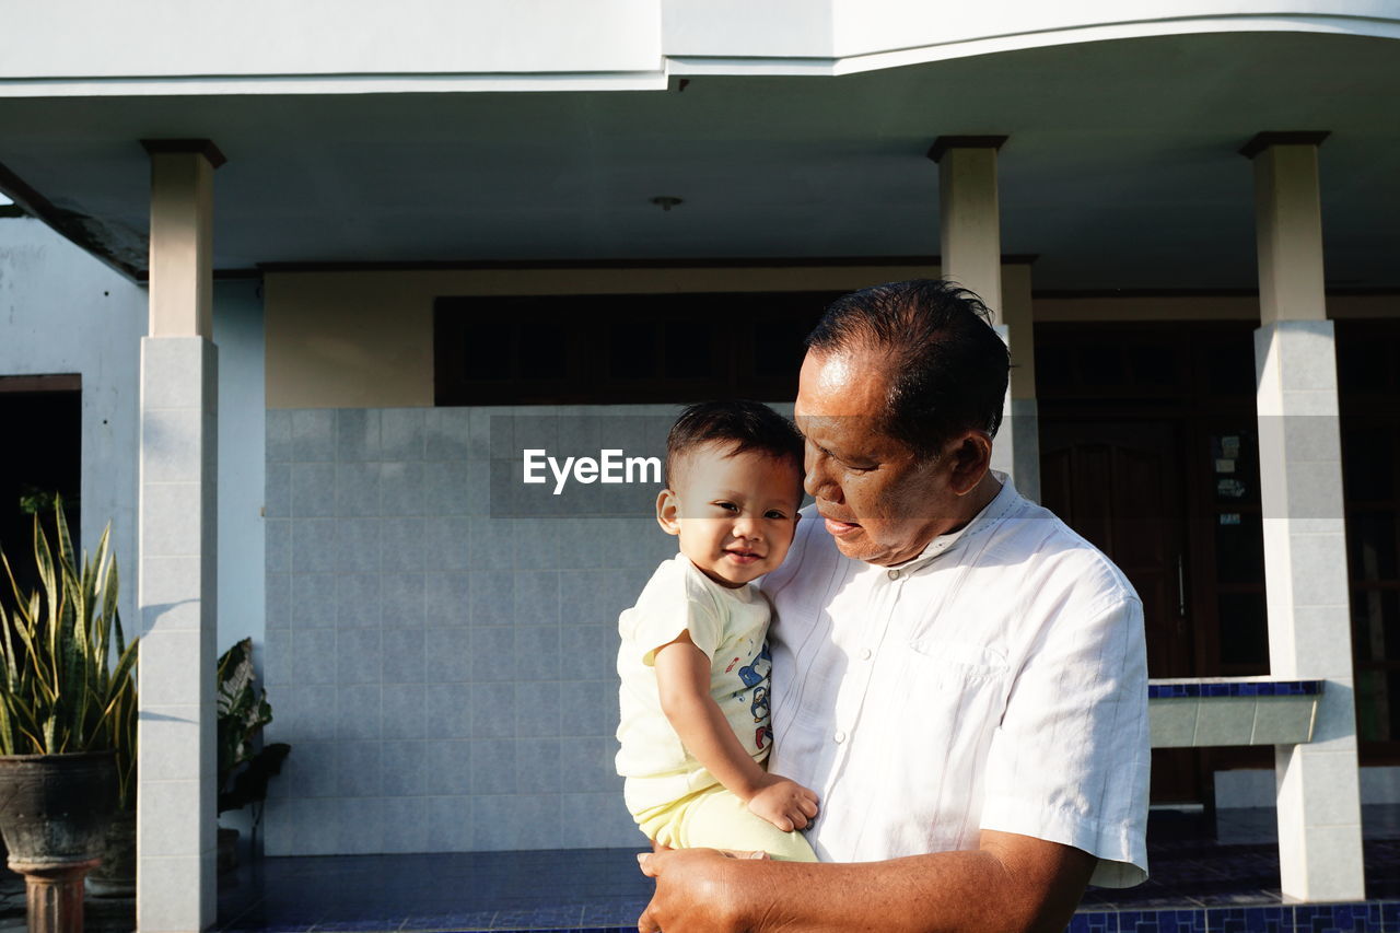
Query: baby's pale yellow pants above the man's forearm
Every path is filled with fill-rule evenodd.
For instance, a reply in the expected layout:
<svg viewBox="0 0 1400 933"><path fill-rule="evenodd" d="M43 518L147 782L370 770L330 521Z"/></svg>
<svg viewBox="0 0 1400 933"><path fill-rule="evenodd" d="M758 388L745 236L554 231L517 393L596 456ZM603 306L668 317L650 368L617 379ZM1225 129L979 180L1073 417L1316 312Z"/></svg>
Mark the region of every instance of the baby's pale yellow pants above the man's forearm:
<svg viewBox="0 0 1400 933"><path fill-rule="evenodd" d="M724 785L634 815L648 839L672 849L763 850L780 862L816 862L812 846L801 832L783 832L752 813Z"/></svg>

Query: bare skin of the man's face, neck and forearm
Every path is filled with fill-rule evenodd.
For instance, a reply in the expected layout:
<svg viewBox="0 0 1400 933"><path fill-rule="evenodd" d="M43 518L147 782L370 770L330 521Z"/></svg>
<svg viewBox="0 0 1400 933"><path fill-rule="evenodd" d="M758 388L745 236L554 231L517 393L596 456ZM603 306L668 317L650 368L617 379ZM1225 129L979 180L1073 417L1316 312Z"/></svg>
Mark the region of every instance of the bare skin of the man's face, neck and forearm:
<svg viewBox="0 0 1400 933"><path fill-rule="evenodd" d="M892 566L970 521L1000 489L991 438L953 437L934 459L882 434L889 385L878 354L809 353L795 416L806 490L848 558ZM984 829L979 846L886 862L794 863L714 849L638 857L657 892L640 933L1060 933L1096 863L1071 846Z"/></svg>

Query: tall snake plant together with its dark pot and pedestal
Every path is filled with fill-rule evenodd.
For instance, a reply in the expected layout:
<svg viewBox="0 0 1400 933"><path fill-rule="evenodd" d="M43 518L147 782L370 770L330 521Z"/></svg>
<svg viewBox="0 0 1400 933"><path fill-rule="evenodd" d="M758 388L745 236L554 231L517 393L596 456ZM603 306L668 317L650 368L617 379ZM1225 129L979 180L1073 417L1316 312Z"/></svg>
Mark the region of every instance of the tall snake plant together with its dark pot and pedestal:
<svg viewBox="0 0 1400 933"><path fill-rule="evenodd" d="M13 611L0 605L0 831L25 876L29 929L67 932L83 929L83 876L112 813L136 640L118 618L111 527L80 567L57 499L53 517L56 555L34 523L38 590L22 593L0 553L14 593Z"/></svg>

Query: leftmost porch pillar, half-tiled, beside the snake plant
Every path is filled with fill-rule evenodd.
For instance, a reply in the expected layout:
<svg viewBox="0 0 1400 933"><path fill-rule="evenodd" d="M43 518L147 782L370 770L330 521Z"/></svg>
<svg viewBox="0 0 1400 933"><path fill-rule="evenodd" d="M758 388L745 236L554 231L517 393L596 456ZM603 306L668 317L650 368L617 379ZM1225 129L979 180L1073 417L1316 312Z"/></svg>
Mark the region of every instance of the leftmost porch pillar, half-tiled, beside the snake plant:
<svg viewBox="0 0 1400 933"><path fill-rule="evenodd" d="M146 140L150 331L141 340L136 926L214 923L216 469L207 140Z"/></svg>

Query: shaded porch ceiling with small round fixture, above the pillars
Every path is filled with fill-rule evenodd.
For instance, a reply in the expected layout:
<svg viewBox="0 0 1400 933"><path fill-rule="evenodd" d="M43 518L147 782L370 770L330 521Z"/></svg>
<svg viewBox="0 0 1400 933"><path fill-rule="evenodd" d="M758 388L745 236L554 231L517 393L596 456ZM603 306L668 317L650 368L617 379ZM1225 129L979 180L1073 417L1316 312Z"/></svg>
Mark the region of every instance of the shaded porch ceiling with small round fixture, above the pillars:
<svg viewBox="0 0 1400 933"><path fill-rule="evenodd" d="M7 98L0 164L136 269L150 137L228 157L223 270L927 256L930 143L1008 134L1002 248L1037 256L1037 289L1250 289L1239 147L1330 130L1329 284L1396 289L1397 118L1400 42L1232 32L669 91Z"/></svg>

